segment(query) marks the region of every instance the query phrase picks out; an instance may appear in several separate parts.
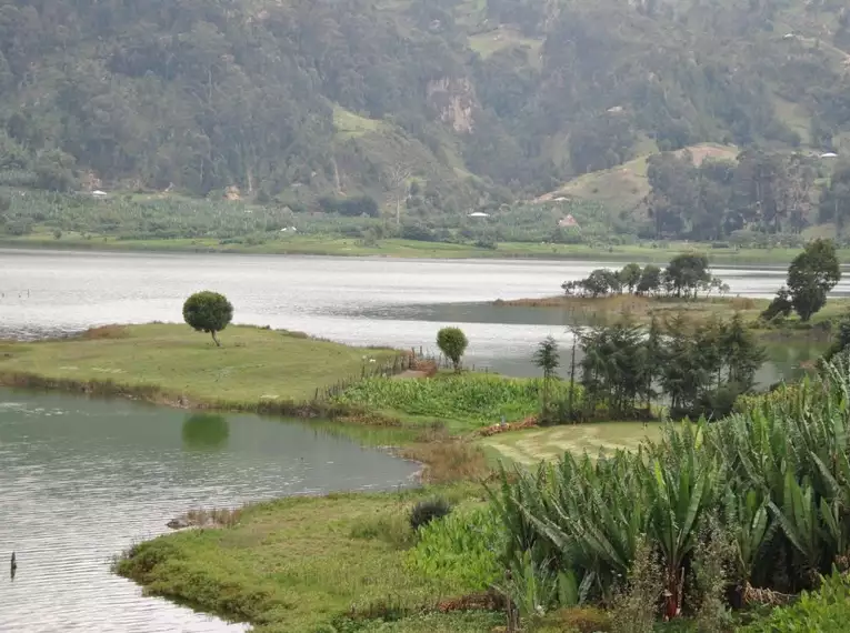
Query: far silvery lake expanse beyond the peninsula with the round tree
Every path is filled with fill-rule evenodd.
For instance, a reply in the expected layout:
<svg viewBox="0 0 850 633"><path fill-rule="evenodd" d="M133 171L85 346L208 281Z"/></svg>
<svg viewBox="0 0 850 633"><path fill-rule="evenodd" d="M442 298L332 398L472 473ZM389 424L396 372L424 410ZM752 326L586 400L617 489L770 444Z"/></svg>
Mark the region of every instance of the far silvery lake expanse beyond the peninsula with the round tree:
<svg viewBox="0 0 850 633"><path fill-rule="evenodd" d="M496 299L551 297L561 283L622 262L398 260L242 254L96 253L0 250L0 336L38 338L107 323L182 321L182 303L217 290L236 323L303 331L356 345L433 346L458 323L469 363L536 373L533 348L547 335L570 343L563 315L489 305ZM783 268L717 268L731 294L770 297ZM833 294L850 294L842 281ZM819 348L820 349L820 348ZM433 350L431 350L433 351ZM807 360L807 359L802 359ZM766 365L760 380L784 375Z"/></svg>

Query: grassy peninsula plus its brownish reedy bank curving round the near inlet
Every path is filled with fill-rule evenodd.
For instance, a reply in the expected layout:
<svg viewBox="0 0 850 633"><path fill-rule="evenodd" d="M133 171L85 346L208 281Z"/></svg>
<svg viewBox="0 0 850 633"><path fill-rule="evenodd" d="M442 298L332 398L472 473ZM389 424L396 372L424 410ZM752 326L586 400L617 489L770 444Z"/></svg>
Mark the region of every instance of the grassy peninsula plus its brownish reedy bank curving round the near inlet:
<svg viewBox="0 0 850 633"><path fill-rule="evenodd" d="M473 469L481 465L474 455L479 448L466 436L472 435L452 430L450 420L409 416L337 399L347 385L391 372L403 351L353 348L250 325L231 326L223 336L226 346L216 349L186 326L147 324L107 325L39 341L0 339L0 386L121 398L183 411L250 413L324 425L361 446L380 449L416 463L419 482L451 480L456 473L466 472L464 459L474 462ZM144 353L147 359L141 355ZM371 373L362 364L363 353L379 360ZM280 361L280 356L290 358ZM136 366L129 358L143 359L142 364ZM187 371L187 359L188 375L174 376L169 368L163 369L170 363L173 365L170 369ZM203 376L193 372L196 359L207 363L203 370L216 375L224 372L227 383L219 383L217 378L204 383ZM270 360L263 362L266 359ZM269 364L276 361L277 366ZM404 361L398 362L398 366L404 366ZM128 373L120 368L128 368ZM92 371L108 372L110 378L92 376ZM298 380L303 384L292 384ZM186 381L182 388L181 381ZM276 391L280 395L266 395Z"/></svg>

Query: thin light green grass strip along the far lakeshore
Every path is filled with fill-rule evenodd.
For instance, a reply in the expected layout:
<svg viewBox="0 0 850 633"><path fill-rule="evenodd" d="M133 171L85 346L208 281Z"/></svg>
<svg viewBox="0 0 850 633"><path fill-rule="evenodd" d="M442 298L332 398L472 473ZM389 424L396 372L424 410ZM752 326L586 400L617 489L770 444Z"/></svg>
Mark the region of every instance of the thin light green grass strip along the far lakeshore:
<svg viewBox="0 0 850 633"><path fill-rule="evenodd" d="M501 242L494 249L472 244L449 244L442 242L418 242L413 240L381 240L366 245L353 238L327 235L292 235L257 245L221 244L212 239L179 240L117 240L114 238L83 239L66 235L56 240L52 235L32 233L22 238L3 238L0 247L71 249L94 251L178 251L222 252L258 254L303 254L332 257L386 257L411 259L552 259L634 261L639 263L668 263L673 255L682 252L698 252L708 255L714 264L726 265L788 265L800 253L800 249L711 249L708 244L669 242L663 247L632 244L598 247L590 244L541 244L529 242ZM850 249L840 249L841 261L850 261Z"/></svg>

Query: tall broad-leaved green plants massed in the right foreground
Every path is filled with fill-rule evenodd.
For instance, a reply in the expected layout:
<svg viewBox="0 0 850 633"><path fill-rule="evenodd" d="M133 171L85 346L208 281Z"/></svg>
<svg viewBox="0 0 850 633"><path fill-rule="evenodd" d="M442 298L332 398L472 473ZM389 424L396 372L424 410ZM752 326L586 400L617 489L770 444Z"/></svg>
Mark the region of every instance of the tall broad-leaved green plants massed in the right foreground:
<svg viewBox="0 0 850 633"><path fill-rule="evenodd" d="M673 619L700 604L706 590L687 573L717 518L736 603L810 590L850 546L849 438L850 371L840 362L722 422L670 426L634 453L568 453L536 472L502 472L491 490L509 534L502 561L528 553L610 605L646 540L662 570L661 613ZM720 573L709 573L714 595Z"/></svg>

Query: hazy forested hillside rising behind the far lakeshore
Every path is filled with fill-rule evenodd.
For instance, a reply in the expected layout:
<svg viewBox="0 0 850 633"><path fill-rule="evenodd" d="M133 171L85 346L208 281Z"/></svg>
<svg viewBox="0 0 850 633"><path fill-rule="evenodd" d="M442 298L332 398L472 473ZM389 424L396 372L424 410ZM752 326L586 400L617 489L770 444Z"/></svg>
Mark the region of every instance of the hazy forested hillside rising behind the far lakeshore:
<svg viewBox="0 0 850 633"><path fill-rule="evenodd" d="M840 151L848 51L837 0L0 0L0 187L608 204L658 150Z"/></svg>

